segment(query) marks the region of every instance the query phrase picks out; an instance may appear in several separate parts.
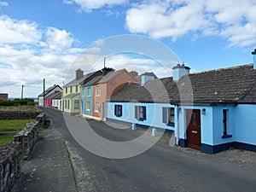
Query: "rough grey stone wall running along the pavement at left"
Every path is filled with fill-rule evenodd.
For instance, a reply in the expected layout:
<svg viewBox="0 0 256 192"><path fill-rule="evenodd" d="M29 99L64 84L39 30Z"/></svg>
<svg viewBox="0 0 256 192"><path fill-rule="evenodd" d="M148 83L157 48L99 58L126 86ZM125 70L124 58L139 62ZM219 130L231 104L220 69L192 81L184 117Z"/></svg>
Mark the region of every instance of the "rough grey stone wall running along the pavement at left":
<svg viewBox="0 0 256 192"><path fill-rule="evenodd" d="M37 118L38 119L38 118ZM26 124L26 127L14 136L14 143L0 147L0 192L9 192L20 177L22 160L26 160L39 138L38 128L44 125L45 113L38 121Z"/></svg>

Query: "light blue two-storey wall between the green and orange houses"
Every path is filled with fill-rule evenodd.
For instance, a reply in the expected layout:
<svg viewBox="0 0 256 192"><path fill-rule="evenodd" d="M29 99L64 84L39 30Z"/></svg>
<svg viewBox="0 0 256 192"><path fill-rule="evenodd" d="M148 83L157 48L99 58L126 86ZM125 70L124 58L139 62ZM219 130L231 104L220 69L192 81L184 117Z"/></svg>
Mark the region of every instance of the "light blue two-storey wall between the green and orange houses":
<svg viewBox="0 0 256 192"><path fill-rule="evenodd" d="M90 87L89 96L87 93L87 88ZM84 94L83 94L84 92ZM83 114L93 116L93 85L82 87L81 88L81 101L83 103ZM90 102L90 111L87 111L87 102Z"/></svg>

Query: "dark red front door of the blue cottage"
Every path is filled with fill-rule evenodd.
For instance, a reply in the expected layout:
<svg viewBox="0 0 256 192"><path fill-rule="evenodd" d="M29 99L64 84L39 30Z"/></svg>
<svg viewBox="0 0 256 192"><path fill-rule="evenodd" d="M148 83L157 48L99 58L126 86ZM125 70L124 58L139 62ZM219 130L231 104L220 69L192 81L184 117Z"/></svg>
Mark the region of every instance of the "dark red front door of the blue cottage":
<svg viewBox="0 0 256 192"><path fill-rule="evenodd" d="M201 150L201 114L200 110L187 109L187 140L186 146Z"/></svg>

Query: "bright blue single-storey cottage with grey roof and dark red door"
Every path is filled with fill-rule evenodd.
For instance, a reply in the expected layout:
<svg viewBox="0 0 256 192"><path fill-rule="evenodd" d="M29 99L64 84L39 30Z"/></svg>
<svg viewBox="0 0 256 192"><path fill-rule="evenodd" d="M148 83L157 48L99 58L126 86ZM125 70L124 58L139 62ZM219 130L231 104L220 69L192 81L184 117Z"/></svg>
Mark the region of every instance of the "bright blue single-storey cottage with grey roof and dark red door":
<svg viewBox="0 0 256 192"><path fill-rule="evenodd" d="M177 145L203 153L256 151L255 78L252 64L202 73L177 65L173 79L125 84L108 101L107 117L174 131Z"/></svg>

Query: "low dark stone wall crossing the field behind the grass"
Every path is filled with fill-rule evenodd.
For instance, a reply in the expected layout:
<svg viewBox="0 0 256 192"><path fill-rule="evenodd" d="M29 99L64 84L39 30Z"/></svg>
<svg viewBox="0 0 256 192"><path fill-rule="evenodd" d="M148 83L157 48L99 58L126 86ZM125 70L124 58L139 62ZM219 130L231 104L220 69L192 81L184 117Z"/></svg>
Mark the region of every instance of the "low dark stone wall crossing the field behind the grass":
<svg viewBox="0 0 256 192"><path fill-rule="evenodd" d="M35 119L39 111L0 111L0 119Z"/></svg>

